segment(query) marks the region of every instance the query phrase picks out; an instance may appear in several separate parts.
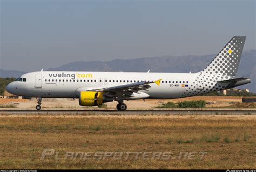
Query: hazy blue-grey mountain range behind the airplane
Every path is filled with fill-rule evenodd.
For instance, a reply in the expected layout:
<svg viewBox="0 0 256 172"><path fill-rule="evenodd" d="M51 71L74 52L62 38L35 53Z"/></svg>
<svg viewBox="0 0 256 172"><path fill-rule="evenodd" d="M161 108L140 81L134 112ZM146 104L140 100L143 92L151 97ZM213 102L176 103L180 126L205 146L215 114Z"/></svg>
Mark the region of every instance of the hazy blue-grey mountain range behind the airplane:
<svg viewBox="0 0 256 172"><path fill-rule="evenodd" d="M138 71L146 72L176 72L196 73L203 70L212 61L215 54L210 55L186 55L186 56L156 56L153 58L138 58L131 60L116 59L112 61L78 61L63 66L50 68L57 71ZM242 52L238 69L238 77L251 77L251 83L241 86L256 92L256 49ZM2 70L0 77L18 77L23 71Z"/></svg>

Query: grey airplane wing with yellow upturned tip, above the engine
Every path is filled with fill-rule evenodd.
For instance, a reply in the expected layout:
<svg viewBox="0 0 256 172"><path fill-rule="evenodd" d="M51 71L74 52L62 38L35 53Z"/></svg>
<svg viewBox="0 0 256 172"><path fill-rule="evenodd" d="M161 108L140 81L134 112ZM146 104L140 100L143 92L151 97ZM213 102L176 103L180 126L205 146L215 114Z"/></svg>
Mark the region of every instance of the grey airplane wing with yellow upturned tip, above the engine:
<svg viewBox="0 0 256 172"><path fill-rule="evenodd" d="M156 83L160 85L160 80L157 81L142 81L142 82L135 82L131 84L125 85L118 85L114 87L107 87L102 89L95 89L95 90L87 90L87 91L101 91L105 92L106 96L108 97L119 97L119 96L133 96L133 93L138 93L140 90L148 90L151 86L150 84Z"/></svg>

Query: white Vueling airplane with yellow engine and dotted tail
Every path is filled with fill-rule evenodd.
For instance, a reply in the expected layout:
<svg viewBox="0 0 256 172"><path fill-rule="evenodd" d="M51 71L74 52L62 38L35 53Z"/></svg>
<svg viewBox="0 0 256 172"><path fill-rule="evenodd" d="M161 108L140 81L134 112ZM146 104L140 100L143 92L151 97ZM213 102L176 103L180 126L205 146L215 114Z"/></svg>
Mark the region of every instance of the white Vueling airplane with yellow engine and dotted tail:
<svg viewBox="0 0 256 172"><path fill-rule="evenodd" d="M250 77L235 77L246 37L235 36L198 73L36 71L18 77L6 90L14 95L42 98L78 98L80 106L100 106L117 101L117 110L127 109L124 101L172 99L207 94L244 85Z"/></svg>

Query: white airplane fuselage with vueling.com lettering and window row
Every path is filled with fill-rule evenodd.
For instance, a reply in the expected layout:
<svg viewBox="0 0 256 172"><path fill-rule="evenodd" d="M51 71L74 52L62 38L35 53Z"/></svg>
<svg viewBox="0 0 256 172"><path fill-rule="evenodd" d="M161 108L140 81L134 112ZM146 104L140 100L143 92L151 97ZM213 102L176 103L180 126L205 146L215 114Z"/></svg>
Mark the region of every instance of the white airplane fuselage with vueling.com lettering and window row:
<svg viewBox="0 0 256 172"><path fill-rule="evenodd" d="M114 87L139 81L155 81L149 90L142 90L151 99L171 99L195 96L223 87L217 87L217 78L207 85L205 78L198 83L199 73L133 73L89 71L37 71L21 76L25 82L15 81L6 89L15 95L26 97L79 98L80 91ZM209 75L207 78L211 78ZM215 89L212 89L214 88ZM217 87L217 89L216 89ZM140 97L138 97L139 99ZM136 98L131 98L136 99Z"/></svg>

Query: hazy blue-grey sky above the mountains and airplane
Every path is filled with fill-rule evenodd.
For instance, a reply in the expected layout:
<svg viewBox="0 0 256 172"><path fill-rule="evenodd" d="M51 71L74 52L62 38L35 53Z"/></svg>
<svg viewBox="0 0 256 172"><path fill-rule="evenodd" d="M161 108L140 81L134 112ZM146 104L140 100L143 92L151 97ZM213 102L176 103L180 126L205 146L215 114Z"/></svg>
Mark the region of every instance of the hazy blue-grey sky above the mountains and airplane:
<svg viewBox="0 0 256 172"><path fill-rule="evenodd" d="M0 68L217 54L233 35L255 48L255 1L0 0Z"/></svg>

